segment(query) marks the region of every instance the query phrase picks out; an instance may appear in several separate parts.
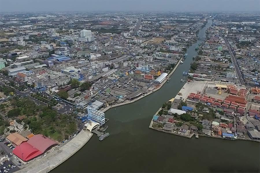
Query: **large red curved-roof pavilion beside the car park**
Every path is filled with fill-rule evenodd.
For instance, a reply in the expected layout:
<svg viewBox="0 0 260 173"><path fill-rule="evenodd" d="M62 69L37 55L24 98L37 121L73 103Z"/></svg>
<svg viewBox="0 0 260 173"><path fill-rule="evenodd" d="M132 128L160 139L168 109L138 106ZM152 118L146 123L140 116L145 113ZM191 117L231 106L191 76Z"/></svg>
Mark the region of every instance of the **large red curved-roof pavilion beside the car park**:
<svg viewBox="0 0 260 173"><path fill-rule="evenodd" d="M31 137L27 142L16 146L13 153L23 161L29 161L38 155L44 153L50 146L57 144L57 142L44 135L38 134Z"/></svg>

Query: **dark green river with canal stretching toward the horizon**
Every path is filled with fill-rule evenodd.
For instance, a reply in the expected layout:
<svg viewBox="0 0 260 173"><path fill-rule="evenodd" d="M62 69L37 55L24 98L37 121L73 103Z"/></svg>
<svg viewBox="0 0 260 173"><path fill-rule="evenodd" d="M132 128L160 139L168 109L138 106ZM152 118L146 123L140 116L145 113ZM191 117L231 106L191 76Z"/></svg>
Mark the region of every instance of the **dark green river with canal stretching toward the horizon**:
<svg viewBox="0 0 260 173"><path fill-rule="evenodd" d="M212 25L201 29L199 37ZM105 112L110 136L90 141L52 172L259 172L258 142L208 137L188 139L149 129L155 112L183 86L182 72L196 56L192 44L187 58L159 91L135 103Z"/></svg>

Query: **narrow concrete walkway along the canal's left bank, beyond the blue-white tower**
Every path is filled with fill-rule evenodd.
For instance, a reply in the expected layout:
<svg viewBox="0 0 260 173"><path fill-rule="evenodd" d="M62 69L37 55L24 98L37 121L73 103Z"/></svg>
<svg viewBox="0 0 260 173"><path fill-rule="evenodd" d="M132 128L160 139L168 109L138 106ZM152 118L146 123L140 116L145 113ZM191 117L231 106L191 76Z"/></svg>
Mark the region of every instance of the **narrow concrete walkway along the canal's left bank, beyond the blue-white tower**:
<svg viewBox="0 0 260 173"><path fill-rule="evenodd" d="M115 108L115 107L118 107L118 106L122 106L122 105L126 105L126 104L130 104L130 103L133 103L135 101L138 101L144 97L146 97L147 95L150 95L152 93L154 93L155 91L158 91L159 89L161 89L161 87L167 82L167 80L170 78L170 76L172 76L172 74L175 72L175 70L177 69L177 67L180 65L181 61L182 61L183 57L181 57L181 59L179 59L178 63L175 65L175 67L173 68L173 70L170 72L170 74L168 74L168 76L166 77L166 79L164 79L164 81L159 85L158 88L156 88L155 90L149 92L149 93L146 93L144 95L142 95L141 97L138 97L136 99L133 99L131 101L127 101L127 102L124 102L124 103L120 103L120 104L116 104L116 105L111 105L111 106L107 106L106 108L102 109L101 111L102 112L106 112L107 110L109 110L110 108Z"/></svg>

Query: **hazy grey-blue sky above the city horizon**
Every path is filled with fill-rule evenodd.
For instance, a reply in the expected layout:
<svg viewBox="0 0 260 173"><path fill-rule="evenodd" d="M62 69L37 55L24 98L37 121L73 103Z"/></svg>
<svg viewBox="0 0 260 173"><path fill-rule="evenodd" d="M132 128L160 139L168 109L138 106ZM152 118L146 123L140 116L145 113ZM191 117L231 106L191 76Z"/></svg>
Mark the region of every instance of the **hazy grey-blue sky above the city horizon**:
<svg viewBox="0 0 260 173"><path fill-rule="evenodd" d="M260 0L0 0L0 12L43 11L260 12Z"/></svg>

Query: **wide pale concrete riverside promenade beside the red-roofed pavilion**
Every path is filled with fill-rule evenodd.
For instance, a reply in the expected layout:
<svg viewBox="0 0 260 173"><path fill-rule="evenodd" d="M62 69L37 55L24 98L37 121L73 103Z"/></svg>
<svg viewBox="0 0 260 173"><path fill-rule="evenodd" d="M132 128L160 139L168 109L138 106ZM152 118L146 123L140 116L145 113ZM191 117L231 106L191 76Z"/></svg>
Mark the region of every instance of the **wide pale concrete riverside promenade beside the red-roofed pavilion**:
<svg viewBox="0 0 260 173"><path fill-rule="evenodd" d="M42 158L41 156L37 157L33 161L23 165L20 170L16 171L17 173L46 173L50 172L61 163L66 161L69 157L79 151L88 140L92 137L93 133L88 131L81 130L77 136L72 138L66 144L62 146L57 146L56 151L46 154L47 156ZM52 150L52 149L51 149Z"/></svg>

